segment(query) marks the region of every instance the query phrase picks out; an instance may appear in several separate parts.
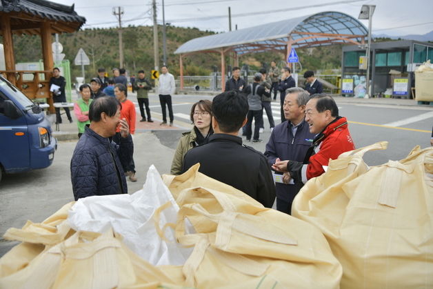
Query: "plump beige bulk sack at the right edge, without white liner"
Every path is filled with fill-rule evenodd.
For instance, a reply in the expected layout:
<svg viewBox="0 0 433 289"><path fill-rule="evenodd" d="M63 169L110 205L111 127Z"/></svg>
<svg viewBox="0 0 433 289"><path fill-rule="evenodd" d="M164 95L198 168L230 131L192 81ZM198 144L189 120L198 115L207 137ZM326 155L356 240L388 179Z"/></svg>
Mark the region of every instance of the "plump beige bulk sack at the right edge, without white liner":
<svg viewBox="0 0 433 289"><path fill-rule="evenodd" d="M369 168L345 152L308 181L294 217L319 228L343 266L341 288L433 288L433 148Z"/></svg>

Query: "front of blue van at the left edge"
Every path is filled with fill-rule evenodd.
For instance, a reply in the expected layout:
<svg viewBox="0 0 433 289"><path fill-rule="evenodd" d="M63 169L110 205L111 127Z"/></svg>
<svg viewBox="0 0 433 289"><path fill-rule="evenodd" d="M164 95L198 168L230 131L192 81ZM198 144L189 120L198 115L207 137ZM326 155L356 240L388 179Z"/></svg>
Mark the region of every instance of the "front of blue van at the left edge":
<svg viewBox="0 0 433 289"><path fill-rule="evenodd" d="M0 76L0 181L4 173L50 166L56 149L42 109Z"/></svg>

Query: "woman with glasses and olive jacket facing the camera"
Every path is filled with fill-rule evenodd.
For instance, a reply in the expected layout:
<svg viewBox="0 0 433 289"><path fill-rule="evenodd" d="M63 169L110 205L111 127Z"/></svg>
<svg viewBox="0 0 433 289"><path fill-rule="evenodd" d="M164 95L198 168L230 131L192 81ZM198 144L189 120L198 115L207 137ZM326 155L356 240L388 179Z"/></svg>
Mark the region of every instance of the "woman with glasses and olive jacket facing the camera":
<svg viewBox="0 0 433 289"><path fill-rule="evenodd" d="M194 128L190 132L184 132L176 152L174 152L171 174L180 175L183 167L183 157L188 150L195 146L208 143L208 138L214 133L212 130L212 101L201 100L192 105L190 119Z"/></svg>

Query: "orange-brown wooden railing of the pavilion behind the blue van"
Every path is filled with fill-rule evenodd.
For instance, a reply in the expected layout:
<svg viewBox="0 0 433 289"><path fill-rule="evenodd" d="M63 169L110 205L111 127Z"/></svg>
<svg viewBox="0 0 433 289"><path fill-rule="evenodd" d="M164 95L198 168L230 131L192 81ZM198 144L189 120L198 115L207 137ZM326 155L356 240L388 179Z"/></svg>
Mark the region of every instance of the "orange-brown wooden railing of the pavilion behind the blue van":
<svg viewBox="0 0 433 289"><path fill-rule="evenodd" d="M0 70L14 86L17 86L29 99L49 99L49 80L41 80L39 74L52 73L50 70L27 71L27 70ZM32 74L31 80L24 80L24 74ZM28 77L26 77L28 78Z"/></svg>

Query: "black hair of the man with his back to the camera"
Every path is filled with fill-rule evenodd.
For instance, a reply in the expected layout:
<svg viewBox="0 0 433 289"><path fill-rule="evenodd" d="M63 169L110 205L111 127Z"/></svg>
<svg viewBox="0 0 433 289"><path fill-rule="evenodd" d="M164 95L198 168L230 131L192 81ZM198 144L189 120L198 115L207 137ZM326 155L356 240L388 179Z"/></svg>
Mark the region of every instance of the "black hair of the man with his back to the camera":
<svg viewBox="0 0 433 289"><path fill-rule="evenodd" d="M222 132L237 132L249 110L245 94L230 90L214 97L212 115L217 119Z"/></svg>

